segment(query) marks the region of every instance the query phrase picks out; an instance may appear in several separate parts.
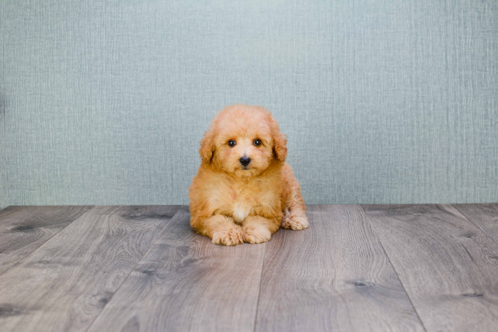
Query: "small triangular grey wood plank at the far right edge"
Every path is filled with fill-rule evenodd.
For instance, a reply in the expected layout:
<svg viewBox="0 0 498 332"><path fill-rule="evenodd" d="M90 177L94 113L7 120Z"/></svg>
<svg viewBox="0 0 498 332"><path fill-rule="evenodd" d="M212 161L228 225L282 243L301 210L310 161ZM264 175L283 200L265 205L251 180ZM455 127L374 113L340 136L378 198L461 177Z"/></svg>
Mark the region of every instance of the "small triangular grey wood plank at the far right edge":
<svg viewBox="0 0 498 332"><path fill-rule="evenodd" d="M453 204L474 225L498 243L498 203ZM498 260L498 256L495 257Z"/></svg>

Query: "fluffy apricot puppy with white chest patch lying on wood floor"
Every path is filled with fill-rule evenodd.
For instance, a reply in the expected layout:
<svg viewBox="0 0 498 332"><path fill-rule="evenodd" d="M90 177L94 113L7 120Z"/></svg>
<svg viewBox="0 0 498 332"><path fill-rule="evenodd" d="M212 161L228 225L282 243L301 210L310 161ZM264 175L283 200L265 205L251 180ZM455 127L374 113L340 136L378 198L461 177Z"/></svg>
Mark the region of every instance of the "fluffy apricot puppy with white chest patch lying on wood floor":
<svg viewBox="0 0 498 332"><path fill-rule="evenodd" d="M190 224L213 244L266 242L279 227L308 227L287 140L262 107L218 113L201 140L201 166L190 186Z"/></svg>

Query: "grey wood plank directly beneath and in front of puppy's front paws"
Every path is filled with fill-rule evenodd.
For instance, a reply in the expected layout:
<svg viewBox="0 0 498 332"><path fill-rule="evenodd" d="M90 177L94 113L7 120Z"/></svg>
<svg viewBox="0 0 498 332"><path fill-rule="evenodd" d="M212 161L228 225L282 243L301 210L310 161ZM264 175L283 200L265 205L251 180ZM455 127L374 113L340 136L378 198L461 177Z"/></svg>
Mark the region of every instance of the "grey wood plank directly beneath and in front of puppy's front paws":
<svg viewBox="0 0 498 332"><path fill-rule="evenodd" d="M253 331L265 244L217 246L172 221L89 331Z"/></svg>

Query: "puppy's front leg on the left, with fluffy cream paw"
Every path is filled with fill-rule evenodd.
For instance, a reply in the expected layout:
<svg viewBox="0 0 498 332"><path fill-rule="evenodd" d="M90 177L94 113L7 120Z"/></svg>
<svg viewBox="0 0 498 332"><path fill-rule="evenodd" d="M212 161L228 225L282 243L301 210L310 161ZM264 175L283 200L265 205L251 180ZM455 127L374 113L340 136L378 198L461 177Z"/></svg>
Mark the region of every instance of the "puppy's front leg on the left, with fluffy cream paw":
<svg viewBox="0 0 498 332"><path fill-rule="evenodd" d="M203 235L216 245L234 246L244 242L242 228L230 217L214 215L202 221Z"/></svg>

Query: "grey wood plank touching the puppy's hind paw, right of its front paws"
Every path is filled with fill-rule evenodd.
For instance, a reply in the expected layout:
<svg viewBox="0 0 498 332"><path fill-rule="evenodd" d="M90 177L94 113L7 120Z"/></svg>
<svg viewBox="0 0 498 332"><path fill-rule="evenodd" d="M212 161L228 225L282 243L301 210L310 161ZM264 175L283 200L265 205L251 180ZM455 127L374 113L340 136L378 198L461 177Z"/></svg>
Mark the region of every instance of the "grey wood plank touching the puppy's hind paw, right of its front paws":
<svg viewBox="0 0 498 332"><path fill-rule="evenodd" d="M307 207L266 247L257 331L423 331L363 209Z"/></svg>

